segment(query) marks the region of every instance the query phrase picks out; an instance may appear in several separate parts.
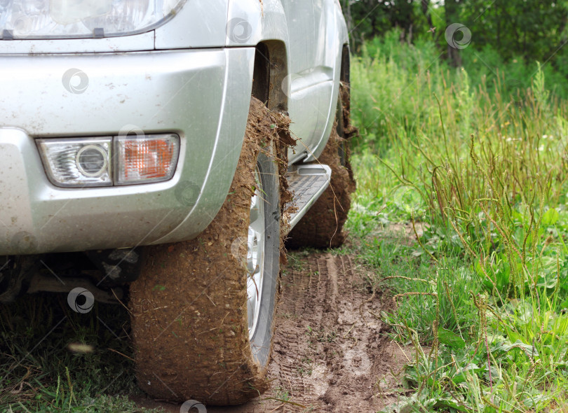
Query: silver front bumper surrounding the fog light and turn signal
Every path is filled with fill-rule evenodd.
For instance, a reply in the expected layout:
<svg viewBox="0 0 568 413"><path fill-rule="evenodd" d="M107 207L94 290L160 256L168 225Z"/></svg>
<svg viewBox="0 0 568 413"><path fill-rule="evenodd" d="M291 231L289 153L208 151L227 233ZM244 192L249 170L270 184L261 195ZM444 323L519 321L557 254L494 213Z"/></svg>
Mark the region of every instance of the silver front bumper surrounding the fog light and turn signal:
<svg viewBox="0 0 568 413"><path fill-rule="evenodd" d="M191 239L222 206L243 143L254 48L0 56L0 255ZM69 69L87 87L72 87ZM76 85L75 85L76 86ZM173 179L57 188L36 138L177 133Z"/></svg>

